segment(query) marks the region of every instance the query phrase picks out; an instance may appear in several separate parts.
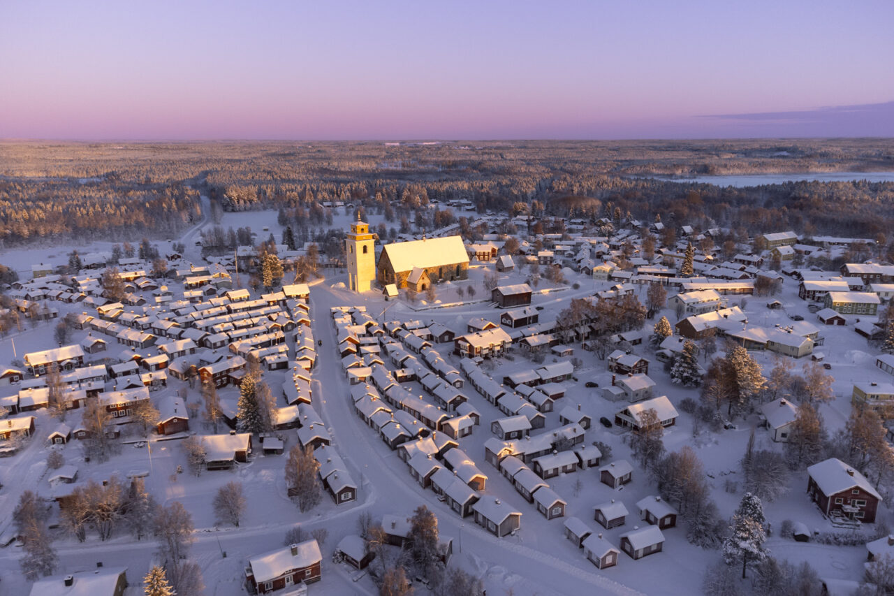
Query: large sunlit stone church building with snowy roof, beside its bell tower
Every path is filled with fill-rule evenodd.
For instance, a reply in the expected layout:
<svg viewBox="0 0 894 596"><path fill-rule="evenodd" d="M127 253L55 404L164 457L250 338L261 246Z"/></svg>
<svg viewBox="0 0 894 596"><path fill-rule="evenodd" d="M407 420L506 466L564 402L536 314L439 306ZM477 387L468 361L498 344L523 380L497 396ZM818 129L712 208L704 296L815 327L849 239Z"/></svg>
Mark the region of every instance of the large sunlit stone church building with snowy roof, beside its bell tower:
<svg viewBox="0 0 894 596"><path fill-rule="evenodd" d="M432 282L466 279L468 252L459 235L385 244L375 268L380 285L394 284L398 289L408 286L413 269L419 270L417 277L425 274Z"/></svg>

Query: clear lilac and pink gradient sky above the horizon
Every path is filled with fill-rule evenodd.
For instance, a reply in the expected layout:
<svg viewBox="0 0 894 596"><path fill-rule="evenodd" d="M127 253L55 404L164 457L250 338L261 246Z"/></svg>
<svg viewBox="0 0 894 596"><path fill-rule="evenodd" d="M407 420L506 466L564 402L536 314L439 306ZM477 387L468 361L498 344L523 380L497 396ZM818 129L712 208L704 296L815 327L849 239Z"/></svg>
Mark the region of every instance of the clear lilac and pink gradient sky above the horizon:
<svg viewBox="0 0 894 596"><path fill-rule="evenodd" d="M894 2L0 0L0 138L894 136Z"/></svg>

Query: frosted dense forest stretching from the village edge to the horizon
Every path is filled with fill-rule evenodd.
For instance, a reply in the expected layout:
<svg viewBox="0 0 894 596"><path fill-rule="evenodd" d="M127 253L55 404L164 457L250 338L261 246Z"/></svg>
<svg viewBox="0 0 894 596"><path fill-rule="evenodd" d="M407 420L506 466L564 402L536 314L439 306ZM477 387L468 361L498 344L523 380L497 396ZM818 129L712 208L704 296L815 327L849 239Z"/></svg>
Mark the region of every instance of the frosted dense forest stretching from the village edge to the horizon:
<svg viewBox="0 0 894 596"><path fill-rule="evenodd" d="M431 200L479 211L595 219L615 209L669 224L793 228L875 237L894 223L894 183L720 188L647 175L880 171L894 140L0 143L0 234L125 239L173 234L227 210L325 222L342 200L411 220ZM396 211L396 213L394 213ZM442 217L443 222L450 217Z"/></svg>

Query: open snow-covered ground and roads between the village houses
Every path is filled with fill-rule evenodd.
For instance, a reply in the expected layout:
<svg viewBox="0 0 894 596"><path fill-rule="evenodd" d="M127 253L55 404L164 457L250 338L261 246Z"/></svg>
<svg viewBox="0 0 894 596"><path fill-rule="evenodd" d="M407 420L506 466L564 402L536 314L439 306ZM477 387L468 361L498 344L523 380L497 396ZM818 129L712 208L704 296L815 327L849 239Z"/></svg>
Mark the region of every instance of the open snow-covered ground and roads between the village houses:
<svg viewBox="0 0 894 596"><path fill-rule="evenodd" d="M370 217L371 224L377 224L377 216ZM347 226L350 216L340 213L335 216L335 226ZM198 251L194 241L198 238L201 226L210 226L203 222L187 231L181 240L187 244L188 258L198 261ZM264 226L269 228L277 239L281 229L276 224L275 212L226 213L221 223L224 227L251 226L260 238L266 237L262 232ZM106 244L108 244L106 246ZM108 250L110 243L95 243L79 250ZM17 269L30 269L30 265L40 260L53 260L56 264L67 261L66 254L72 247L55 247L29 251L3 251L0 262L12 265ZM202 566L207 594L215 596L235 596L245 593L243 587L243 567L249 557L282 545L287 529L294 524L301 524L310 531L323 527L328 531L328 539L322 547L324 553L323 581L310 586L311 593L356 594L375 593L375 586L368 577L358 582L352 581L347 567L331 562L335 544L348 533L357 532L357 519L361 512L368 512L374 518L384 514L411 515L415 507L426 505L438 516L439 528L444 535L454 538L454 558L451 565L462 566L473 574L484 578L488 593L502 594L511 590L516 596L528 594L680 594L695 593L704 568L717 558L711 550L697 548L686 540L686 528L676 527L664 532L666 542L661 553L635 561L626 555L620 556L618 566L604 571L597 569L584 558L583 551L574 547L563 536L564 518L546 520L534 505L528 503L514 490L510 482L490 464L485 462L484 442L493 435L490 432L491 421L502 418L495 406L489 404L484 397L477 394L468 384L463 392L471 397L473 405L482 415L480 426L474 433L460 439L460 447L478 464L478 467L489 477L486 495L497 497L516 507L522 512L521 530L517 535L502 539L495 538L477 526L471 517L460 517L439 501L431 490L421 489L407 472L403 464L380 438L367 425L358 419L350 402L350 391L344 377L341 362L334 350L335 336L331 324L330 308L339 305L364 305L375 318L380 320L434 319L457 332L464 332L466 321L473 317L484 317L499 322L500 311L492 302L483 302L487 295L483 287L485 273L493 272L492 264L473 263L468 281L437 285L437 300L427 304L425 296L420 294L415 304L409 304L401 297L398 301L385 302L376 293L358 296L344 289L345 277L334 273L331 277L315 283L311 289L311 314L316 338L323 341L319 348L319 360L314 370L315 393L314 407L329 427L334 439L334 447L342 454L351 468L350 472L361 479L358 500L349 505L336 507L332 500L324 496L320 506L308 514L299 513L298 508L286 497L283 481L283 464L285 456L263 456L256 450L256 456L249 464L238 466L231 472L206 472L200 477L190 473L176 473L178 465L186 468L185 457L178 447L178 441L155 440L151 450L134 447L122 441L120 455L112 457L104 464L83 462L77 441L63 447L68 462L79 467L81 480L94 478L104 480L112 474L124 477L128 473L148 471L147 487L156 500L162 504L181 501L193 516L198 529L197 541L191 553ZM27 278L27 276L23 276ZM503 276L502 281L515 283L523 281L527 276L519 272ZM572 284L577 283L576 289ZM431 308L443 303L460 300L457 288L475 286L477 296L474 301L460 306L448 308ZM573 298L592 295L595 290L602 290L611 284L596 282L592 278L574 274L558 291L536 293L533 305L540 310L541 320L556 318ZM556 289L542 281L540 290ZM174 292L178 288L173 287ZM638 290L640 298L645 302L645 286ZM797 282L786 279L782 294L776 296L785 305L784 310L771 310L766 307L768 299L747 297L745 311L751 324L772 327L789 321L789 315L802 314L805 319L815 318L806 310L806 303L797 298ZM467 299L468 300L468 299ZM441 302L441 304L438 304ZM730 303L738 303L737 297L730 296ZM59 308L60 317L66 312L80 312L80 305L54 303ZM659 313L654 321L646 321L651 326L664 314L671 322L676 316L670 309ZM21 332L13 332L0 341L0 363L3 365L21 358L23 353L46 349L55 345L53 329L55 321L38 323L26 327ZM80 341L87 331L74 334L72 341ZM855 333L853 326L821 328L821 336L825 345L819 347L826 354L825 362L831 364L831 374L835 377L834 389L836 399L824 404L821 413L830 431L842 427L850 412L850 394L857 380L890 381L887 375L873 366L873 351L867 346L864 337ZM443 357L459 366L459 360L451 355L451 345L435 345ZM594 353L581 349L579 344L573 345L574 358L582 361L581 367L575 371L574 381L566 383L566 396L556 404L556 411L546 414L546 429L559 426L558 411L562 407L580 404L582 411L588 413L595 425L586 432L586 443L603 441L612 448L611 460L631 459L627 445L624 443L624 431L617 427L605 429L598 424L601 416L613 419L622 404L610 402L603 398L602 388L610 379L606 363L596 358ZM98 354L97 357L114 355L119 347L110 345L109 353ZM645 345L637 346L635 352L649 358L652 365L649 375L657 382L655 395L667 395L673 404L689 396L697 399L696 390L679 387L670 382L667 373L662 370L660 362L654 360L654 354ZM761 362L764 371L772 367L772 354L753 353L755 360ZM548 356L546 362L552 362ZM796 362L796 367L802 362ZM536 368L518 351L512 359L502 358L495 362L489 374L494 379L502 379L506 373L515 370ZM279 387L284 372L265 373L265 379L271 387ZM585 382L595 379L600 388L587 388ZM421 387L413 386L414 389ZM154 394L154 398L173 393L185 384L176 379L169 379L166 390ZM3 388L0 394L5 395ZM223 398L234 397L236 389L227 387L221 392ZM198 402L198 391L190 391L188 400ZM282 404L282 398L281 398ZM38 414L37 436L31 438L19 454L0 460L0 532L9 528L13 507L23 490L38 490L46 494L47 449L45 439L55 421L46 412ZM721 515L731 515L741 498L741 473L738 460L745 451L749 432L757 423L756 416L745 423L738 423L738 430L722 430L712 434L704 432L698 438L693 437L692 420L682 413L678 424L665 431L664 445L674 451L689 445L704 462L709 475L709 483L713 498L721 508ZM200 421L190 421L192 430L207 432ZM293 431L292 431L293 432ZM780 444L773 443L765 430L756 431L758 447L780 449ZM288 448L289 446L287 446ZM632 460L631 460L632 461ZM230 526L215 527L211 501L215 491L223 483L231 480L242 481L249 500L249 511L239 528ZM581 481L578 490L577 481ZM728 481L738 482L738 490L728 492ZM810 503L805 494L806 474L804 471L792 473L789 480L789 492L772 503L765 503L768 519L774 527L786 519L804 522L811 528L830 529L816 507ZM635 525L644 522L636 520L635 503L640 498L656 493L653 479L638 469L633 481L620 490L611 490L598 481L596 468L579 470L577 473L563 475L550 480L553 490L568 501L566 515L575 515L582 519L595 532L602 532L603 537L617 545L619 536L628 532ZM605 531L593 519L593 507L611 498L621 500L628 507L631 515L628 524ZM887 518L888 512L881 513ZM822 570L823 576L847 579L859 579L862 576L865 551L862 547L829 547L814 543L803 544L789 539L774 536L768 542L775 556L799 562L810 562L814 568ZM61 533L55 541L60 565L57 573L91 568L102 562L105 566L128 566L128 576L132 584L139 582L156 550L156 543L151 540L135 541L125 532L116 532L110 541L98 541L95 534L89 535L88 541L78 543ZM23 580L18 568L21 549L9 546L0 549L0 596L6 594L23 594L28 592L27 583ZM139 588L131 587L129 594L141 593ZM420 590L420 593L425 591Z"/></svg>

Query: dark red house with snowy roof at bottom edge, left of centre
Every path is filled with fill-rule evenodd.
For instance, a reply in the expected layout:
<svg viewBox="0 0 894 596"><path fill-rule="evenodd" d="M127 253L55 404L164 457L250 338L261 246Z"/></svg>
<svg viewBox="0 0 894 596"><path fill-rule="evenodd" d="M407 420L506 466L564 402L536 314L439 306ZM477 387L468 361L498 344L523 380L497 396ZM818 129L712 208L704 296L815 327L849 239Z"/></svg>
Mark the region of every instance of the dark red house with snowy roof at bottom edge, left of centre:
<svg viewBox="0 0 894 596"><path fill-rule="evenodd" d="M266 594L320 581L323 555L316 540L291 544L257 557L249 558L245 568L246 588L251 593Z"/></svg>

